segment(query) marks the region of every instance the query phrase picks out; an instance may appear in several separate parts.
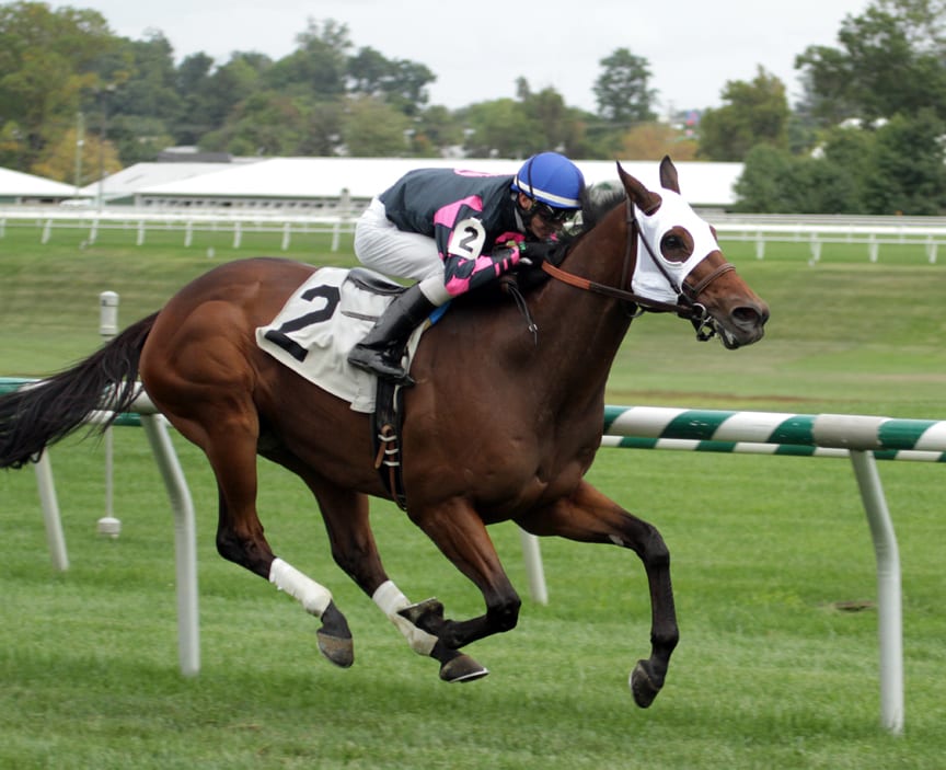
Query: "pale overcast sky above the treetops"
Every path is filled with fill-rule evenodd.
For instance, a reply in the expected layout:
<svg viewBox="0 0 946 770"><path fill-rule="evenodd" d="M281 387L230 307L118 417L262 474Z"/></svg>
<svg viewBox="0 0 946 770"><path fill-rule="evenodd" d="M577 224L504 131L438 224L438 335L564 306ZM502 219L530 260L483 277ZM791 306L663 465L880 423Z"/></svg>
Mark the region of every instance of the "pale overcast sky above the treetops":
<svg viewBox="0 0 946 770"><path fill-rule="evenodd" d="M650 68L657 112L718 107L728 81L751 81L763 67L801 95L795 57L812 45L838 47L847 15L870 0L72 0L53 8L99 11L112 31L146 39L155 30L175 59L232 51L274 59L297 48L309 22L348 27L354 50L423 64L437 80L430 104L451 110L552 87L568 106L597 111L601 59L627 48Z"/></svg>

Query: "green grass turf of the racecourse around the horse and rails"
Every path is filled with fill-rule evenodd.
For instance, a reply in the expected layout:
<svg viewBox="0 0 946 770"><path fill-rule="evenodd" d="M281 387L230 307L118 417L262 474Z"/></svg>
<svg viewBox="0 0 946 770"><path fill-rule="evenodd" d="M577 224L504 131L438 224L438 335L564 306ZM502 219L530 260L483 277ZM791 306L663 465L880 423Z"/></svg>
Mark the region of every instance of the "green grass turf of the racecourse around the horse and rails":
<svg viewBox="0 0 946 770"><path fill-rule="evenodd" d="M39 375L99 344L97 295L130 323L227 258L281 254L278 238L234 251L226 237L79 235L8 228L0 238L0 375ZM67 237L74 237L69 243ZM124 239L124 240L123 240ZM104 240L104 239L103 239ZM298 245L298 249L296 248ZM725 244L772 306L766 338L729 353L668 317L636 321L611 403L851 412L946 418L938 313L943 267L881 249ZM327 238L296 258L339 262ZM301 483L261 463L259 507L274 549L326 584L348 616L356 665L338 670L315 621L214 547L216 492L175 437L198 512L203 669L177 669L173 528L141 432L119 428L118 540L102 540L102 446L50 453L71 567L53 571L35 478L0 473L0 768L934 768L946 705L943 469L880 466L902 562L905 733L879 725L876 577L850 463L803 458L602 450L592 482L656 524L673 554L681 644L654 706L626 677L648 645L636 558L543 540L551 601L528 598L518 536L492 531L526 601L514 632L470 652L492 671L448 686L411 653L332 563ZM412 598L453 617L481 598L390 504L374 504L389 572ZM866 606L840 611L838 602Z"/></svg>

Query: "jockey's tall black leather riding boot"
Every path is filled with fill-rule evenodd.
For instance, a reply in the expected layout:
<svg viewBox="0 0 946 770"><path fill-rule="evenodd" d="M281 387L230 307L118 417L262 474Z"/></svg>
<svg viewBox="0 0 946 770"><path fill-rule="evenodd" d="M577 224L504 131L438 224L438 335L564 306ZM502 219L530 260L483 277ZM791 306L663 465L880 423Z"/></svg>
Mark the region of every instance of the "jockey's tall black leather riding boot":
<svg viewBox="0 0 946 770"><path fill-rule="evenodd" d="M404 382L407 372L401 359L407 337L436 307L414 284L394 298L371 331L351 348L348 363L378 377Z"/></svg>

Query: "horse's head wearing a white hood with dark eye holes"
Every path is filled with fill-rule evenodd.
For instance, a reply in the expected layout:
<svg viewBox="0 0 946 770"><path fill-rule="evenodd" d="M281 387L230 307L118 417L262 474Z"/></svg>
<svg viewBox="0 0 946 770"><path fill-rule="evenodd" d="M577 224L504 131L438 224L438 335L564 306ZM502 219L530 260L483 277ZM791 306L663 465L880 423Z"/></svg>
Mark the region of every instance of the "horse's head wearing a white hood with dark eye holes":
<svg viewBox="0 0 946 770"><path fill-rule="evenodd" d="M659 191L648 189L620 163L618 174L627 193L628 222L637 232L631 289L641 307L676 303L701 340L717 333L729 349L761 340L769 307L726 262L716 231L680 195L670 158L660 162Z"/></svg>

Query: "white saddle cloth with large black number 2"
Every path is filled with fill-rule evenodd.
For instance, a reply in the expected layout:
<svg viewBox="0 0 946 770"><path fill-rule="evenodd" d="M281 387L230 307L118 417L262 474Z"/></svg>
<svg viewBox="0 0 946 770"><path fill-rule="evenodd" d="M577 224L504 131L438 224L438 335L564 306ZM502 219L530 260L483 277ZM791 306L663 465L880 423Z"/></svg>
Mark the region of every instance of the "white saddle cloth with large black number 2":
<svg viewBox="0 0 946 770"><path fill-rule="evenodd" d="M322 267L299 286L265 326L256 329L256 344L267 354L323 390L347 401L351 410L374 411L377 378L348 364L348 353L368 333L393 299L356 281L350 271ZM361 276L396 285L358 268ZM427 324L407 343L409 360Z"/></svg>

